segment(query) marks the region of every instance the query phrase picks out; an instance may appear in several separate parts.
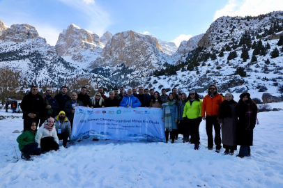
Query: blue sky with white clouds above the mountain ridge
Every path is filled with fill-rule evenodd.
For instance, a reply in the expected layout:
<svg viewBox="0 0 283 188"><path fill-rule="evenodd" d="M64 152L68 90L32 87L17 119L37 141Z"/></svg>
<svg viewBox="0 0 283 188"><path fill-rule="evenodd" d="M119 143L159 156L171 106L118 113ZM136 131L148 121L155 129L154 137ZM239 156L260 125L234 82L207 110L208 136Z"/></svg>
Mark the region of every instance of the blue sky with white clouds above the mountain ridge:
<svg viewBox="0 0 283 188"><path fill-rule="evenodd" d="M205 33L218 17L254 16L280 8L282 0L0 0L0 20L7 26L34 26L50 45L75 24L98 36L132 30L178 46Z"/></svg>

